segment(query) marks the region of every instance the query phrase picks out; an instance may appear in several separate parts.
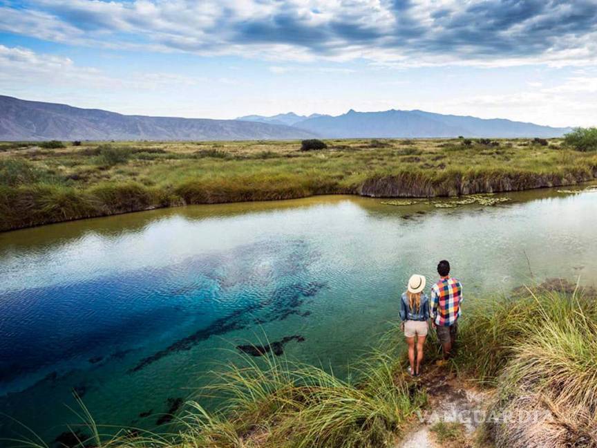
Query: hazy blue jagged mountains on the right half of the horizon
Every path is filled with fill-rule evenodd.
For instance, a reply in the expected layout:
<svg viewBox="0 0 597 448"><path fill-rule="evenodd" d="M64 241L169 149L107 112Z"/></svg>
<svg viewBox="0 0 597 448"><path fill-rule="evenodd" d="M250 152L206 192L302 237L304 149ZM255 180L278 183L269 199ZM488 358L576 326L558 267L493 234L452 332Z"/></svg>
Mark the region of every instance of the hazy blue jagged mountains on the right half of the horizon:
<svg viewBox="0 0 597 448"><path fill-rule="evenodd" d="M309 118L294 125L323 138L392 137L559 137L571 128L554 128L511 120L485 120L424 111L355 112Z"/></svg>

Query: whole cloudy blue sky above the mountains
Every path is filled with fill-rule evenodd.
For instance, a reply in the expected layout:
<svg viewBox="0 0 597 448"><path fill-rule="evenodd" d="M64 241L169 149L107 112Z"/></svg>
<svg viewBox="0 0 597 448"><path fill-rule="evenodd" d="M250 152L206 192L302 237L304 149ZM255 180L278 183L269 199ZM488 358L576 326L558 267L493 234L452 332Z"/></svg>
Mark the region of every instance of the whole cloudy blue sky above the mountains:
<svg viewBox="0 0 597 448"><path fill-rule="evenodd" d="M597 0L0 0L0 94L236 118L597 125Z"/></svg>

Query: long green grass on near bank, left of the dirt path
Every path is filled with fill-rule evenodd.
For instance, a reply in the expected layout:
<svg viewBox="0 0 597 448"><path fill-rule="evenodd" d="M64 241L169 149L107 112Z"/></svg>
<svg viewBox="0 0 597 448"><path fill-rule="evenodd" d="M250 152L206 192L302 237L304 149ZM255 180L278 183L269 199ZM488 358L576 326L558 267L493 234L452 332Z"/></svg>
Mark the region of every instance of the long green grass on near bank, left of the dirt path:
<svg viewBox="0 0 597 448"><path fill-rule="evenodd" d="M214 448L256 438L260 447L377 447L393 440L425 400L397 375L397 358L381 353L363 362L354 381L285 358L246 364L228 366L210 386L227 393L225 414L210 416L193 404L196 411L183 418L191 436L184 437Z"/></svg>

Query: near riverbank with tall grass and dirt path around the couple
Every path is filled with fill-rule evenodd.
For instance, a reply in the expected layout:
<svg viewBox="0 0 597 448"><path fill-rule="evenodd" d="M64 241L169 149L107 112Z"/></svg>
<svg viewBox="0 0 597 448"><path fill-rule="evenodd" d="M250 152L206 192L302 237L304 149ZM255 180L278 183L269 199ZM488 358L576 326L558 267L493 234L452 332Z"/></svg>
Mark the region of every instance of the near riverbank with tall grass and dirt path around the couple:
<svg viewBox="0 0 597 448"><path fill-rule="evenodd" d="M428 338L418 379L406 374L398 324L345 381L284 357L247 358L202 392L227 395L220 412L191 401L167 435L122 431L102 442L91 426L75 446L401 447L428 427L425 440L442 446L597 447L596 298L552 279L477 302L446 366L434 365Z"/></svg>

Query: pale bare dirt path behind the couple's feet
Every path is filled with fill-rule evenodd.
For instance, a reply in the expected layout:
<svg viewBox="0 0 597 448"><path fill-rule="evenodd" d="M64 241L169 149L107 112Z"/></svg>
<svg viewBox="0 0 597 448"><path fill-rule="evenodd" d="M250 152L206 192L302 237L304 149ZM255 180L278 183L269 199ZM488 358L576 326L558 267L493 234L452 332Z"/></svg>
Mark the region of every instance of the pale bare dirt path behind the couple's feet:
<svg viewBox="0 0 597 448"><path fill-rule="evenodd" d="M459 423L457 429L462 433L458 440L448 440L441 444L442 447L473 447L473 436L482 423L489 393L463 384L453 373L437 366L415 381L417 388L427 392L428 409L421 416L423 421L417 422L414 431L395 448L439 448L437 436L431 431L438 422Z"/></svg>

